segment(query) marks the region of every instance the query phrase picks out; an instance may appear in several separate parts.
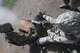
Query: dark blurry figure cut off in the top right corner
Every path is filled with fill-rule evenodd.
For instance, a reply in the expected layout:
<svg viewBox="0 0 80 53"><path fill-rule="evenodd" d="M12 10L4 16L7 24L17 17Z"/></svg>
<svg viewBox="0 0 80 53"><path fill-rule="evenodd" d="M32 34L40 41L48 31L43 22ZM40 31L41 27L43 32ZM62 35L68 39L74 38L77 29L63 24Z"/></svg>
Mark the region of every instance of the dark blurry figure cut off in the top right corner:
<svg viewBox="0 0 80 53"><path fill-rule="evenodd" d="M71 8L71 10L78 11L77 7L80 6L80 0L63 0L64 4L60 8Z"/></svg>

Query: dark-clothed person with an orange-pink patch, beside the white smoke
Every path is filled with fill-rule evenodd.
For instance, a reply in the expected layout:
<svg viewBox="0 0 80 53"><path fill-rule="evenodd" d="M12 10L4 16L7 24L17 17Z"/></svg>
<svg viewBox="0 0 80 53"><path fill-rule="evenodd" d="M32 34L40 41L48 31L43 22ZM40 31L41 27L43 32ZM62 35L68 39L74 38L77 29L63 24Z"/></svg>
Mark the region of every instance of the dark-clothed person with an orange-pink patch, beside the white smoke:
<svg viewBox="0 0 80 53"><path fill-rule="evenodd" d="M5 33L5 38L8 40L8 43L17 46L24 46L35 42L38 38L35 29L27 21L22 22L21 25L22 27L15 31L10 23L2 24L0 25L0 33Z"/></svg>

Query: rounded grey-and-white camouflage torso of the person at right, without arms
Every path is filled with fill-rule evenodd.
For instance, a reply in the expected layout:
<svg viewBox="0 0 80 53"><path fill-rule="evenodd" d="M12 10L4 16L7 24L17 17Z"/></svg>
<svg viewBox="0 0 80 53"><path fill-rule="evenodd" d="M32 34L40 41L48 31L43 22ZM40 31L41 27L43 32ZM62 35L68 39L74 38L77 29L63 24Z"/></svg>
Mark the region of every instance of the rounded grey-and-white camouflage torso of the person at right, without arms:
<svg viewBox="0 0 80 53"><path fill-rule="evenodd" d="M80 12L68 11L56 19L58 28L65 34L77 36L80 34ZM80 37L79 37L80 38Z"/></svg>

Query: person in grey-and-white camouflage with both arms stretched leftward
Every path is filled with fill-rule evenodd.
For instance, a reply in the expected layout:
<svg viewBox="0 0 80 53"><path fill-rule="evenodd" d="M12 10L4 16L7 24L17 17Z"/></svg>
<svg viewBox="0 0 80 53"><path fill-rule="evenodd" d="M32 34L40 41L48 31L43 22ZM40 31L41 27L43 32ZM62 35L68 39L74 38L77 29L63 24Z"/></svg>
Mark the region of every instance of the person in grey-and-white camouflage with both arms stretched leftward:
<svg viewBox="0 0 80 53"><path fill-rule="evenodd" d="M48 22L54 27L47 30L48 36L41 37L37 40L38 44L45 44L49 42L60 42L67 44L80 43L80 13L75 11L68 11L59 15L57 19L50 16L43 15ZM55 29L55 30L53 30Z"/></svg>

